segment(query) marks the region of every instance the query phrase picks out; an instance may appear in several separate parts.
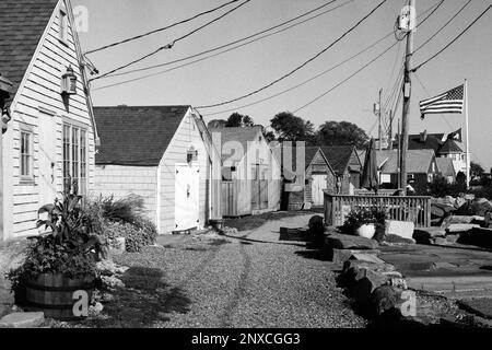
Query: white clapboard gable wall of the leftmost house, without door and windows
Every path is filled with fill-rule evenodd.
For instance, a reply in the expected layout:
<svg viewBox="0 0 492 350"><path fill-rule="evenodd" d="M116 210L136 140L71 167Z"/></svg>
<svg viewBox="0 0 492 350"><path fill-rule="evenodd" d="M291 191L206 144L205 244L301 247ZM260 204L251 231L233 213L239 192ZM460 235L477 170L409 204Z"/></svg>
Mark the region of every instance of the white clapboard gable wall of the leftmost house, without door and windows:
<svg viewBox="0 0 492 350"><path fill-rule="evenodd" d="M65 7L65 1L60 4ZM12 238L27 234L36 234L35 222L37 208L44 205L39 198L39 108L54 114L56 143L55 185L61 197L62 192L62 125L74 120L83 125L87 132L87 185L89 191L94 183L94 129L84 94L81 67L79 65L71 23L69 20L69 38L66 44L58 40L58 14L55 10L48 28L39 43L38 50L24 77L24 82L11 106L12 121L3 136L4 162L4 231L5 237ZM65 104L60 94L61 74L72 66L77 81L77 94L71 95ZM20 182L20 130L21 125L33 130L33 172L34 183L24 185Z"/></svg>

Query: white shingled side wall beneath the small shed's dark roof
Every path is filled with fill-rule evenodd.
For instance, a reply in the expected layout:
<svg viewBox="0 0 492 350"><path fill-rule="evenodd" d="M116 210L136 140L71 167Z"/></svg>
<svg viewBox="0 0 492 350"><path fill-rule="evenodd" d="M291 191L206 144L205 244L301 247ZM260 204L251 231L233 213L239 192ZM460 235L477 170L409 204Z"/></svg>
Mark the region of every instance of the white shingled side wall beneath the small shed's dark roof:
<svg viewBox="0 0 492 350"><path fill-rule="evenodd" d="M115 200L130 194L141 196L145 213L157 224L157 167L96 165L93 195L114 196Z"/></svg>

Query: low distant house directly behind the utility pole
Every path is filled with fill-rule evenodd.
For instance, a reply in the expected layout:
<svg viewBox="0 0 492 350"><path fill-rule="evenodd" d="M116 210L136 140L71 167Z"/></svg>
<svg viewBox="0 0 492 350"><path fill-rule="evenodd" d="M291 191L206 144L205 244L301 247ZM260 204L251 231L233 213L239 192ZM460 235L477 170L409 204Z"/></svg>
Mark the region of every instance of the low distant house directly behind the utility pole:
<svg viewBox="0 0 492 350"><path fill-rule="evenodd" d="M376 151L379 184L386 188L398 188L398 151ZM424 192L427 183L440 174L433 150L409 150L407 152L407 182L417 192Z"/></svg>

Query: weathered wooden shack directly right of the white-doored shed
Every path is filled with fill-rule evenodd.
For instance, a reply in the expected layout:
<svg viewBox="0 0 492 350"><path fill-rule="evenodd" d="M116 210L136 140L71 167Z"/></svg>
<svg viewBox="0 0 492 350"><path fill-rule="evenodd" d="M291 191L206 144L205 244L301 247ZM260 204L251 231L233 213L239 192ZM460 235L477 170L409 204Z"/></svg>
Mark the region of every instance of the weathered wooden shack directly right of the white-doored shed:
<svg viewBox="0 0 492 350"><path fill-rule="evenodd" d="M261 126L209 129L222 155L222 214L280 209L280 162Z"/></svg>

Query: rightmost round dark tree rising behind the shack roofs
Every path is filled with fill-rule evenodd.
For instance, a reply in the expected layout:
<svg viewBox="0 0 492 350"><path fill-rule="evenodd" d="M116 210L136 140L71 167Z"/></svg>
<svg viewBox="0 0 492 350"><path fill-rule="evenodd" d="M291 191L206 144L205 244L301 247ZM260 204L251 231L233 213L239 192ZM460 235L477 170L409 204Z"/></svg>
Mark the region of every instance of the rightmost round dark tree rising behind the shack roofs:
<svg viewBox="0 0 492 350"><path fill-rule="evenodd" d="M319 127L318 135L324 145L353 144L360 148L368 142L365 131L349 121L326 121Z"/></svg>

